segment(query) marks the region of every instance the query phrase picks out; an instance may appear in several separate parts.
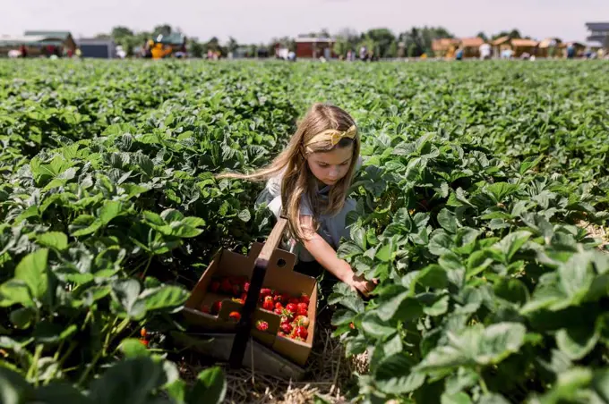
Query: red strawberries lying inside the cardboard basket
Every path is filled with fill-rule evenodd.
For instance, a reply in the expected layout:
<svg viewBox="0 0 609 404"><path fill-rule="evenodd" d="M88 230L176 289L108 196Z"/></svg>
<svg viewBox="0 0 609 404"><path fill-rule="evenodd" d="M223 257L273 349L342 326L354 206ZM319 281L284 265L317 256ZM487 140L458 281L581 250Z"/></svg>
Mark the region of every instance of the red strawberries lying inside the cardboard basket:
<svg viewBox="0 0 609 404"><path fill-rule="evenodd" d="M250 282L247 277L225 276L212 280L209 290L213 293L227 294L232 297L233 301L243 305L249 288ZM216 300L211 307L202 305L201 311L217 316L220 307L222 307L222 301ZM303 293L296 297L287 293L280 293L277 290L262 288L258 307L281 317L278 335L297 341L306 341L310 323L308 317L309 297L306 294ZM238 322L241 314L238 311L233 311L229 314L229 317ZM266 332L269 329L269 324L266 321L259 320L256 322L256 329Z"/></svg>

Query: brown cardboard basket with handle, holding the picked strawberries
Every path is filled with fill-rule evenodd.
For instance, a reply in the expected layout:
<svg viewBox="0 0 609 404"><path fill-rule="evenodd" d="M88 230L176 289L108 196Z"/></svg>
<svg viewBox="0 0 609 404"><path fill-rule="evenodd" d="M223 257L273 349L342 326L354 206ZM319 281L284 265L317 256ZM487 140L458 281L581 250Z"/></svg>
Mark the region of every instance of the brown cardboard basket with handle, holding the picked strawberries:
<svg viewBox="0 0 609 404"><path fill-rule="evenodd" d="M286 366L291 365L282 358L288 359L293 365L304 366L313 346L317 282L311 276L294 272L296 256L278 248L286 224L287 220L281 217L271 231L269 239L264 244L254 243L247 256L222 249L213 258L199 282L193 287L183 309L188 324L202 330L202 335L212 337L212 340L202 345L203 348L199 350L223 360L228 357L231 366L253 366L266 369L270 373L279 372L281 375L298 373L294 369L288 372ZM212 293L209 290L213 278L230 275L246 276L250 280L244 305L226 295ZM306 293L310 297L308 308L310 323L306 341L296 341L277 334L280 316L256 307L262 288L296 296ZM218 316L200 310L202 305L211 306L214 301L220 299L222 307ZM241 312L239 322L235 323L229 318L228 315L232 311ZM254 324L258 320L264 320L269 324L266 332L255 328ZM253 343L248 345L250 336L253 337ZM253 355L252 349L256 355ZM245 350L248 350L248 355L244 355ZM253 360L256 363L252 363Z"/></svg>

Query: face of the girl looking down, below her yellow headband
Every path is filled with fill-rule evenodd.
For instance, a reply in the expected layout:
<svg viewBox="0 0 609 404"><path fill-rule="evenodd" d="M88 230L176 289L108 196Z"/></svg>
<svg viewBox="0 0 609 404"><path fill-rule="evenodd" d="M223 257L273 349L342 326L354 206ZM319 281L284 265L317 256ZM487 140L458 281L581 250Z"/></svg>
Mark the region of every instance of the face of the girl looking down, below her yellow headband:
<svg viewBox="0 0 609 404"><path fill-rule="evenodd" d="M306 157L311 173L325 185L334 185L347 175L353 159L353 145L335 147L329 152L311 153Z"/></svg>

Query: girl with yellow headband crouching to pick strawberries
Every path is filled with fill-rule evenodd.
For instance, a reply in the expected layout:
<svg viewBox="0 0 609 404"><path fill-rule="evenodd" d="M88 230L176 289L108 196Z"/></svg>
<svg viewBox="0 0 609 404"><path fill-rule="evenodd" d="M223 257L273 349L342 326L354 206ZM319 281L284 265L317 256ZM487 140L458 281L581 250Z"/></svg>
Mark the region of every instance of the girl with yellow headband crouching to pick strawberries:
<svg viewBox="0 0 609 404"><path fill-rule="evenodd" d="M251 174L225 173L219 178L268 180L257 204L287 217L291 250L299 261L323 268L365 296L374 283L356 276L336 248L348 236L345 219L355 208L347 190L361 165L356 123L335 105L314 104L299 122L287 148L273 162Z"/></svg>

